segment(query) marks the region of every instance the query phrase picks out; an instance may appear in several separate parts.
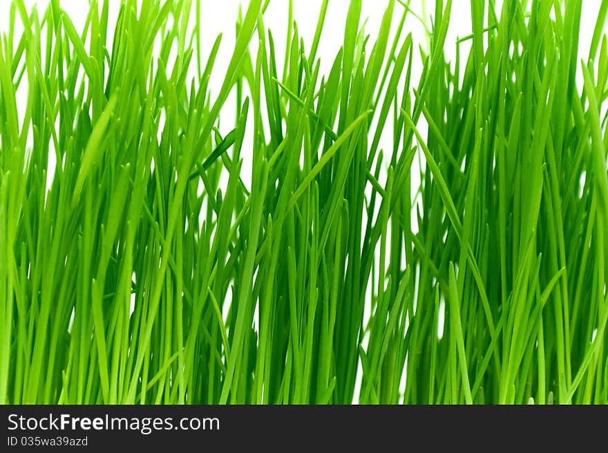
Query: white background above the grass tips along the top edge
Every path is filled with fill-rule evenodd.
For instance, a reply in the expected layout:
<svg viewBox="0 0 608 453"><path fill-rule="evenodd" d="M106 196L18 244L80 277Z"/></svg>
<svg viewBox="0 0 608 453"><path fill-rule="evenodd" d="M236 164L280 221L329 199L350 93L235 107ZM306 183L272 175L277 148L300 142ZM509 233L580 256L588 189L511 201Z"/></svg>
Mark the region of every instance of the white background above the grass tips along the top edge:
<svg viewBox="0 0 608 453"><path fill-rule="evenodd" d="M532 0L538 1L538 0ZM567 0L568 1L568 0ZM101 3L102 0L98 0ZM48 5L48 0L24 0L28 10L37 5L41 14ZM140 3L140 1L138 1ZM194 1L193 1L194 3ZM247 9L247 0L202 0L202 30L203 30L203 48L205 55L209 52L213 40L218 33L224 34L222 38L221 51L218 54L218 69L227 67L231 56L231 48L234 45L234 24L238 15L239 8L243 8L243 12ZM300 35L303 37L305 44L312 43L314 30L316 28L319 10L321 8L321 0L294 0L294 19L297 21ZM321 69L329 68L333 62L337 50L342 44L343 31L346 12L348 11L349 0L330 0L327 8L327 16L325 20L325 28L321 36L321 46L319 46L318 56L321 58ZM445 1L444 1L445 3ZM495 1L497 10L500 11L502 0ZM59 0L61 8L63 8L70 19L72 19L77 30L82 30L86 15L88 13L88 1L86 0ZM110 0L110 24L115 23L120 0ZM377 35L377 30L384 12L384 8L388 4L388 0L363 0L363 8L361 12L362 21L366 19L365 31L372 39ZM275 37L278 56L283 55L285 48L284 42L280 37L287 35L287 0L271 0L270 5L265 13L265 25L270 28ZM580 32L580 44L582 53L580 55L587 57L587 49L591 35L593 34L593 25L597 17L600 0L583 0L582 1L582 29ZM421 17L424 17L430 24L430 17L433 15L435 8L434 0L411 0L410 6L412 10L417 12ZM8 30L8 10L10 0L0 0L0 30L4 33ZM192 8L194 10L194 8ZM403 7L397 3L395 5L395 17L393 25L399 19ZM18 21L19 22L19 21ZM406 20L406 32L411 31L414 41L419 44L426 43L426 34L424 28L419 24L419 21L408 15ZM453 0L450 28L446 39L446 55L448 58L453 57L455 53L455 41L457 37L466 36L471 33L471 0ZM111 39L108 39L108 46L111 45ZM321 73L323 73L322 71ZM326 71L325 71L326 72ZM216 71L216 81L222 76L221 71Z"/></svg>

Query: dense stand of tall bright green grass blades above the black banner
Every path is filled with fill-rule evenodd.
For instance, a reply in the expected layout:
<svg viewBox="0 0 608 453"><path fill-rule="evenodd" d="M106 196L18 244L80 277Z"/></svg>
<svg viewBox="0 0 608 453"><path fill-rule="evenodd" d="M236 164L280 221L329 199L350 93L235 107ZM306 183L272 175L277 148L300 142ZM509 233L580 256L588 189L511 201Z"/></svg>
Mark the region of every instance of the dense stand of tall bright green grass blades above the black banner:
<svg viewBox="0 0 608 453"><path fill-rule="evenodd" d="M608 1L581 1L473 0L453 42L451 0L383 1L371 36L352 0L323 74L329 0L312 43L245 2L209 55L200 1L77 30L14 0L0 403L608 403Z"/></svg>

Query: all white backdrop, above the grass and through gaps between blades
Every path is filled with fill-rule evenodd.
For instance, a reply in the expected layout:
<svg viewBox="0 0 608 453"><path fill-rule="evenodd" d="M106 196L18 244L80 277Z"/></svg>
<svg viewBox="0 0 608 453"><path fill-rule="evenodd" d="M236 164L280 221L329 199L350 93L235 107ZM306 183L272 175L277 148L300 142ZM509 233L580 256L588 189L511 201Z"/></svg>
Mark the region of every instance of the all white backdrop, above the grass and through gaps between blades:
<svg viewBox="0 0 608 453"><path fill-rule="evenodd" d="M146 0L143 0L146 1ZM537 0L531 0L537 1ZM566 0L568 1L568 0ZM26 8L31 10L31 8L37 8L39 15L42 15L48 6L48 0L23 0L26 5ZM102 3L102 0L98 0L98 3ZM120 9L121 0L109 0L109 9L108 9L108 33L111 33L113 30L113 25L116 23L117 15ZM142 1L137 1L138 6L141 6ZM222 42L220 45L220 50L218 52L216 63L213 65L213 73L211 73L211 80L209 81L209 89L211 90L211 99L214 97L214 93L218 93L220 86L225 77L225 70L228 67L229 60L232 56L232 51L234 48L234 44L236 41L236 20L238 18L240 10L243 11L247 9L247 0L201 0L201 8L200 8L200 21L202 24L202 64L204 65L207 61L207 57L211 52L211 47L213 46L213 42L216 37L222 33ZM319 12L321 10L322 0L293 0L292 3L292 16L293 20L297 24L298 34L307 49L310 49L312 44L314 33L316 30L317 21L319 19ZM327 13L325 17L325 26L323 27L323 33L321 34L321 41L319 43L319 49L317 50L317 58L320 59L320 75L327 75L329 73L332 63L334 62L334 58L338 53L339 49L343 43L343 35L345 29L345 20L348 12L350 1L348 0L330 0ZM444 1L444 3L446 3ZM495 0L497 10L500 10L500 6L502 5L502 0ZM191 21L190 26L193 27L193 24L196 23L195 15L196 8L194 5L196 4L196 0L192 0L192 8L191 8ZM371 47L373 46L374 38L378 35L380 22L385 11L385 7L388 4L388 0L363 0L362 10L361 10L361 22L359 24L360 27L364 27L365 35L369 35L370 39L367 44L368 53L370 52ZM10 21L10 0L0 0L0 32L2 34L7 33L9 29L9 21ZM82 30L84 24L86 23L86 17L89 10L89 1L86 0L59 0L59 5L61 8L69 15L70 19L73 21L77 30ZM580 30L580 48L579 48L579 57L587 59L587 55L589 53L589 44L591 42L591 37L593 35L593 26L585 27L585 24L589 22L589 24L595 24L598 8L600 6L599 0L582 0L582 28ZM435 14L435 1L433 0L411 0L410 8L413 12L416 13L418 17L424 20L427 28L432 28L432 18ZM288 32L288 13L289 13L289 1L288 0L270 0L269 7L267 8L265 15L263 17L265 26L272 31L272 35L274 36L274 44L276 50L277 57L277 65L278 72L281 73L281 68L283 68L283 61L285 55L285 37L287 37ZM397 27L397 23L399 21L399 17L403 14L403 6L401 6L398 1L395 6L395 14L393 16L392 21L392 33L395 32L395 28ZM19 20L16 21L17 24L15 26L15 34L16 36L21 35L21 22ZM191 30L190 30L191 31ZM415 57L412 63L412 86L416 86L415 82L418 80L419 75L422 69L421 56L417 49L419 47L423 49L428 49L430 35L428 34L425 26L421 24L421 21L415 17L415 15L408 14L406 18L406 22L404 25L403 37L408 33L412 33L412 39L415 44ZM446 59L448 61L454 61L456 55L456 41L459 37L466 37L471 34L471 0L453 0L453 6L450 14L450 26L448 28L448 34L446 37L446 44L444 46L444 53L446 55ZM46 35L42 35L42 46L44 48L44 40ZM402 39L403 39L402 37ZM108 35L108 40L106 46L108 47L108 51L111 53L111 45L113 41L113 36ZM251 39L251 55L255 56L257 52L257 37ZM88 44L88 39L86 41ZM160 44L160 37L158 39L158 44ZM15 43L15 45L17 45ZM175 43L175 45L177 45ZM471 41L464 41L460 44L460 52L461 55L468 55L469 48L471 46ZM155 48L158 50L158 47ZM158 53L157 53L158 55ZM167 62L167 68L171 68L173 62ZM404 75L403 75L404 77ZM580 74L580 68L578 71L578 80L579 86L582 83L582 77ZM191 72L189 73L189 78L196 79L196 62L191 64ZM249 95L247 89L245 89L245 93L243 96ZM20 122L23 121L23 115L25 114L26 109L26 96L27 96L27 84L21 83L19 86L19 91L17 92L17 109L19 114ZM236 118L234 118L234 112L236 107L236 93L231 93L227 102L224 104L224 108L220 112L220 124L219 128L222 132L227 132L233 129L234 122ZM253 117L251 111L249 112L249 121L248 124L253 124ZM424 122L424 116L421 116L419 120L419 131L422 136L426 135L427 126ZM379 149L392 149L392 115L388 115L388 120L386 122L386 126L383 131L383 136L381 137ZM252 129L253 127L247 127L247 131L245 133L245 142L243 145L243 151L241 152L241 157L243 158L243 181L245 185L250 186L251 182L251 147L253 143L252 138ZM162 129L160 129L162 130ZM374 128L372 128L374 130ZM31 134L31 129L30 129ZM28 141L31 146L32 137L29 138ZM390 153L389 153L390 155ZM50 143L50 151L49 151L49 159L48 159L48 179L47 185L50 187L51 182L53 181L53 174L55 172L55 150L53 149L53 142ZM386 167L388 167L388 163L384 165L383 172L381 172L380 183L384 185L386 181ZM414 161L412 166L411 173L411 184L412 184L412 196L415 197L413 200L415 203L419 202L416 198L416 190L419 188L420 184L420 167L424 168L424 156L418 154L417 160ZM220 181L220 187L225 187L227 184L227 175L225 179ZM202 189L202 187L200 187ZM370 189L370 188L368 188ZM205 212L205 210L202 210ZM365 222L366 219L363 219ZM412 229L414 231L417 230L417 218L415 215L415 210L412 210ZM387 257L388 259L388 257ZM370 291L371 286L368 285L368 291ZM367 301L371 301L371 294L367 295ZM369 318L370 313L370 304L366 306L366 311L364 315L364 322ZM223 306L223 314L226 317L227 311L230 306L230 300L226 300ZM132 307L133 309L133 307ZM254 316L254 320L257 320L258 314ZM442 312L439 314L439 331L442 331L442 325L444 323ZM367 339L364 339L364 346L367 342ZM357 388L359 388L361 382L361 366L359 365L359 376L357 380ZM403 373L403 378L405 378L406 373ZM402 388L404 387L404 382L401 383ZM358 394L358 390L355 392Z"/></svg>

